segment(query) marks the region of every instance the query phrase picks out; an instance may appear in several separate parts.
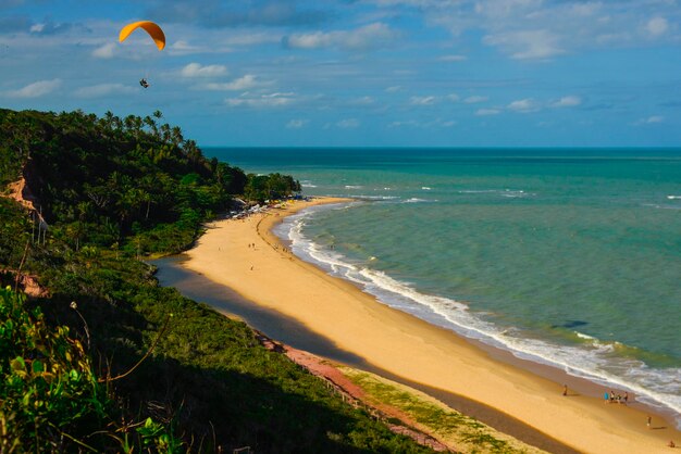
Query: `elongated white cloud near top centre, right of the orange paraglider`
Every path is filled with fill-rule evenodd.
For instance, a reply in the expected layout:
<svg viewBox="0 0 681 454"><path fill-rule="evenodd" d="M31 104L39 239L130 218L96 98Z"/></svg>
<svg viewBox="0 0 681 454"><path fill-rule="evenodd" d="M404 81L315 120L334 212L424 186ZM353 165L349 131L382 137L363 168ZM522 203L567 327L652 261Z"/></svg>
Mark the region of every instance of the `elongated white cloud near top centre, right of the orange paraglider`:
<svg viewBox="0 0 681 454"><path fill-rule="evenodd" d="M339 47L349 50L367 50L392 45L398 33L383 23L369 24L355 30L315 31L296 34L285 38L286 46L297 49Z"/></svg>

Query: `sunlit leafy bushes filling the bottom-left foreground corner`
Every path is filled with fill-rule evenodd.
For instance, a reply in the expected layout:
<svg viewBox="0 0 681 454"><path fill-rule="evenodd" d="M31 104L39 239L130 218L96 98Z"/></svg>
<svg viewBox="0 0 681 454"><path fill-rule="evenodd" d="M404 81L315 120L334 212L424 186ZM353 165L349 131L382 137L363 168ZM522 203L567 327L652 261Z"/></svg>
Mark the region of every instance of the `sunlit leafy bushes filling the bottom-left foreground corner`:
<svg viewBox="0 0 681 454"><path fill-rule="evenodd" d="M0 289L0 452L176 451L181 441L151 418L120 425L83 344L24 300Z"/></svg>

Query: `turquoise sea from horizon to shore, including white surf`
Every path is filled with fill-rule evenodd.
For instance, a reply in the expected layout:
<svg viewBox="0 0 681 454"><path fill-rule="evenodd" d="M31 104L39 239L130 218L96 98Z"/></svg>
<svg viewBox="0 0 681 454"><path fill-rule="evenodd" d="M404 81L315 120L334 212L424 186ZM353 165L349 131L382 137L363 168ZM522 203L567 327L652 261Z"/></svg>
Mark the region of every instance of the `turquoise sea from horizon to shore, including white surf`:
<svg viewBox="0 0 681 454"><path fill-rule="evenodd" d="M681 151L205 152L359 199L278 235L386 304L681 414Z"/></svg>

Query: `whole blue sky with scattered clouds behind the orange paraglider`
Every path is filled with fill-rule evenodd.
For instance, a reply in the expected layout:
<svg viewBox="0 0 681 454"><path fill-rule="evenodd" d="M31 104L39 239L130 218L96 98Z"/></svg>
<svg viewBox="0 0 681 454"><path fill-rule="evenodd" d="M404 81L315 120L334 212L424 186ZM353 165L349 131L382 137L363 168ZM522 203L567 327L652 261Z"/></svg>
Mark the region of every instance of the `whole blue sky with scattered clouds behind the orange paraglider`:
<svg viewBox="0 0 681 454"><path fill-rule="evenodd" d="M163 51L117 41L138 20ZM681 1L0 0L0 106L205 147L680 147Z"/></svg>

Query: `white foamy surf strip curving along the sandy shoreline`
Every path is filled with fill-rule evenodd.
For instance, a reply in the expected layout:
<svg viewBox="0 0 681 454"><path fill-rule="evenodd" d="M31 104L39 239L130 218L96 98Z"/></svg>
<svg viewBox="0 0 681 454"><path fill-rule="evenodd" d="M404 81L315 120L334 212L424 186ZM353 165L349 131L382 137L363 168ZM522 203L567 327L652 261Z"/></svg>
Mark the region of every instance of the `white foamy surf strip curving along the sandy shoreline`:
<svg viewBox="0 0 681 454"><path fill-rule="evenodd" d="M358 203L361 202L343 206ZM614 352L617 345L621 346L618 342L603 342L579 331L573 331L575 337L585 342L566 345L536 338L518 328L500 327L486 319L484 313L470 311L463 302L422 293L409 282L371 268L370 265L377 261L374 256L354 263L339 252L311 241L304 234L310 217L329 209L338 209L338 205L320 205L289 216L275 229L275 234L290 240L293 252L302 260L359 285L383 304L507 350L517 357L561 368L606 388L634 392L639 401L676 413L677 426L681 428L681 368L653 368L640 360L617 356Z"/></svg>

